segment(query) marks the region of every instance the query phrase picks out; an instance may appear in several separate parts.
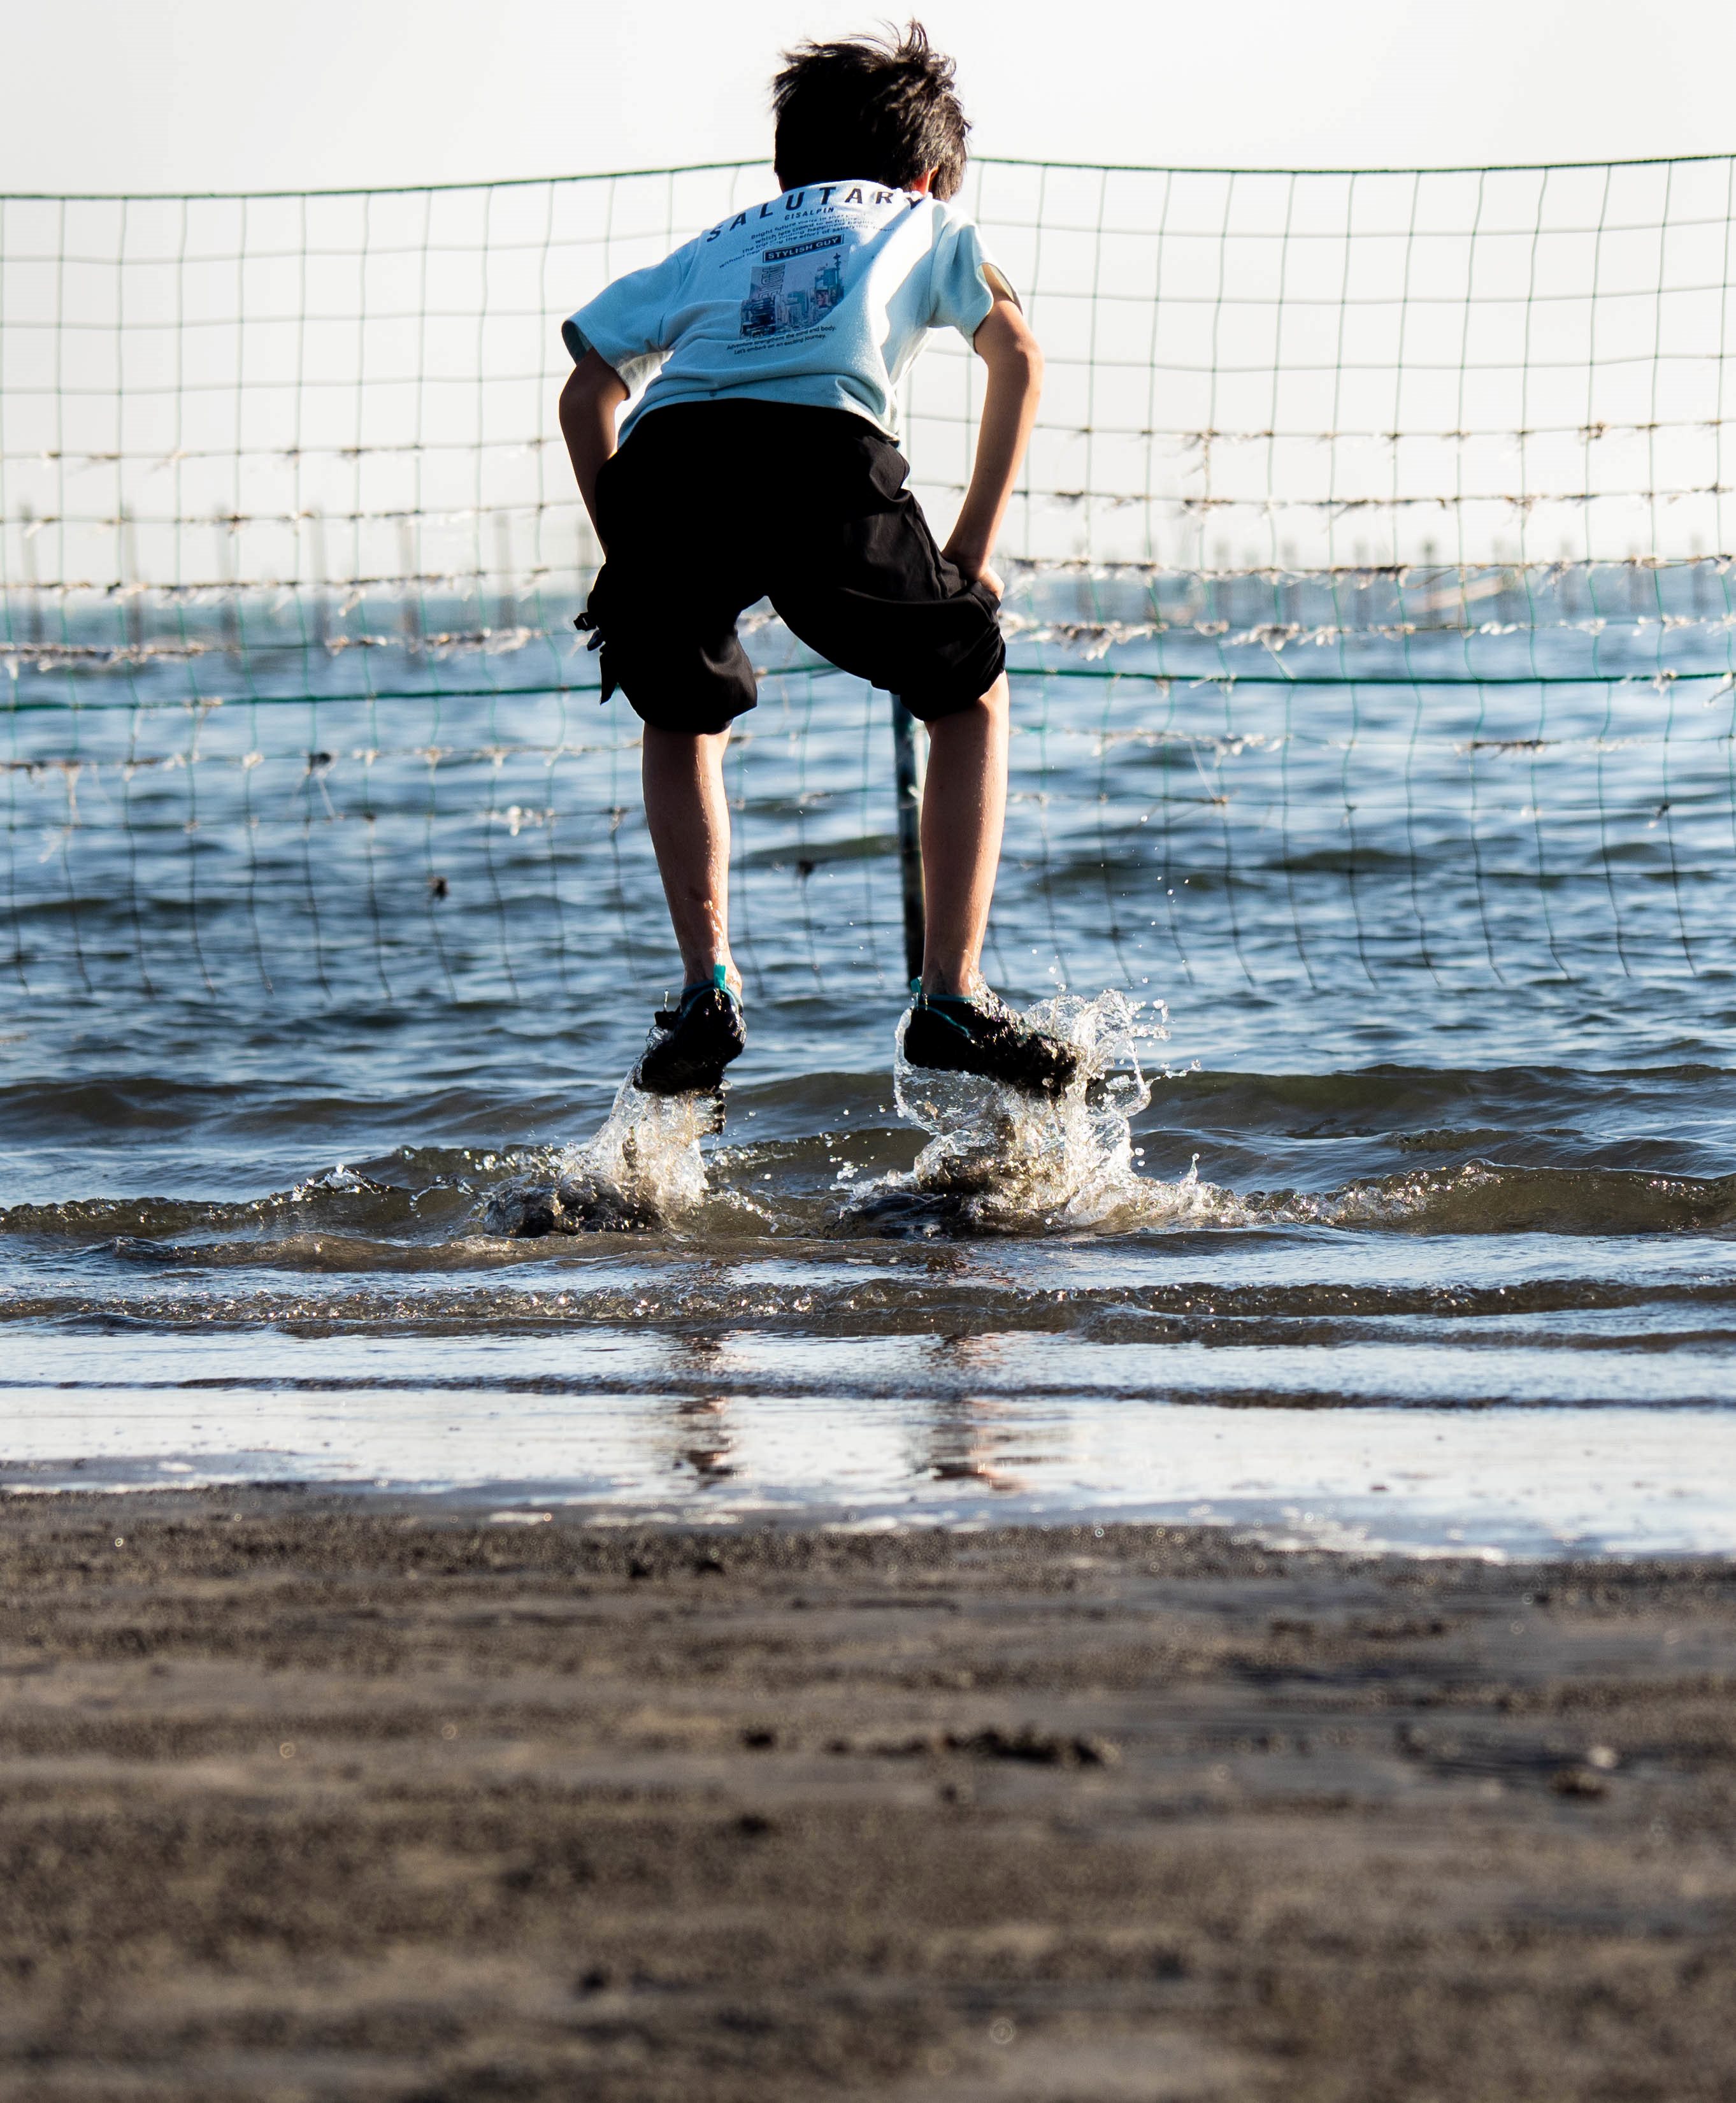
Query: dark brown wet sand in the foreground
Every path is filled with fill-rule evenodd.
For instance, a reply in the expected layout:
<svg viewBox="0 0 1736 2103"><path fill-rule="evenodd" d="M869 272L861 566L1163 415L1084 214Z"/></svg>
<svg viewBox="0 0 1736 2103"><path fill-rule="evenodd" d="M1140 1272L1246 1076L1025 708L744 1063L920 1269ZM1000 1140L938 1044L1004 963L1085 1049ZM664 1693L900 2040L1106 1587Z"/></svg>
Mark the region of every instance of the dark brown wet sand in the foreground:
<svg viewBox="0 0 1736 2103"><path fill-rule="evenodd" d="M0 2095L1736 2097L1736 1565L0 1506Z"/></svg>

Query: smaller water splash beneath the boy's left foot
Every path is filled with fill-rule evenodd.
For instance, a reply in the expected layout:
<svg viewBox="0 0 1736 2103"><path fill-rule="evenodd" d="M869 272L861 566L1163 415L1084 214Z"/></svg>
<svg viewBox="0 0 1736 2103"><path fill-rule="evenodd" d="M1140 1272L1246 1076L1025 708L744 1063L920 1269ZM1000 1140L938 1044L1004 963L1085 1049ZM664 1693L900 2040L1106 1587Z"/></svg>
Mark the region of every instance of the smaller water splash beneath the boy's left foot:
<svg viewBox="0 0 1736 2103"><path fill-rule="evenodd" d="M647 1096L622 1081L595 1138L488 1197L483 1230L534 1239L668 1226L708 1197L700 1140L719 1123L717 1096Z"/></svg>

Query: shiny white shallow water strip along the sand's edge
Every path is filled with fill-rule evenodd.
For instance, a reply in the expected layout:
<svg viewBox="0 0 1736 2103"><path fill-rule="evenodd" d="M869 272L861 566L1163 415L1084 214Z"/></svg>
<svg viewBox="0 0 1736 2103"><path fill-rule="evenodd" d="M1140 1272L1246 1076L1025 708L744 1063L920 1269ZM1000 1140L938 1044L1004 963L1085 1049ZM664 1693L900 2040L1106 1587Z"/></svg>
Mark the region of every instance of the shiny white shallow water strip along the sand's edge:
<svg viewBox="0 0 1736 2103"><path fill-rule="evenodd" d="M595 1527L994 1531L1112 1518L1347 1554L1736 1552L1736 1415L1707 1403L1154 1401L1063 1386L1068 1373L1089 1377L1091 1342L1040 1369L994 1348L944 1348L960 1363L939 1371L923 1352L902 1354L849 1392L803 1384L811 1344L788 1352L794 1369L767 1371L780 1354L767 1342L683 1363L654 1342L649 1352L668 1359L654 1367L666 1380L656 1390L626 1386L612 1363L553 1371L555 1346L523 1363L490 1346L485 1365L452 1350L439 1384L416 1377L414 1354L399 1369L372 1350L357 1380L347 1361L273 1354L261 1375L259 1348L240 1363L244 1340L216 1365L210 1348L204 1335L164 1350L118 1333L48 1352L38 1380L11 1390L0 1502L269 1485L271 1495L401 1497L420 1510L534 1504ZM1187 1352L1154 1346L1152 1359L1164 1350L1166 1367L1124 1373L1175 1382ZM1297 1356L1337 1365L1345 1352ZM1261 1352L1227 1346L1202 1359L1215 1373Z"/></svg>

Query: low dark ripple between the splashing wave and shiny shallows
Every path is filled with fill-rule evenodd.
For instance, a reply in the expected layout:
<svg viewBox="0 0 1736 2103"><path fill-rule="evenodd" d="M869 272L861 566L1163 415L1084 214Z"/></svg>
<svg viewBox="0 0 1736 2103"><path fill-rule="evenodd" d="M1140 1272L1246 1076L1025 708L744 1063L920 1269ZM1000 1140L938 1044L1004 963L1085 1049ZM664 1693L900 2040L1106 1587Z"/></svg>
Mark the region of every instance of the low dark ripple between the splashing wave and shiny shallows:
<svg viewBox="0 0 1736 2103"><path fill-rule="evenodd" d="M1570 1258L1570 1251L1564 1253ZM700 1338L717 1338L721 1331L828 1340L1072 1333L1095 1344L1303 1344L1372 1342L1385 1323L1402 1323L1402 1333L1414 1340L1421 1323L1438 1342L1459 1338L1469 1344L1501 1344L1515 1340L1509 1325L1520 1323L1528 1325L1520 1338L1528 1348L1606 1352L1635 1344L1658 1348L1660 1342L1721 1346L1736 1329L1736 1274L1719 1270L1688 1277L1637 1270L1608 1279L1528 1279L1496 1270L1486 1281L1370 1277L1347 1283L1311 1274L1303 1260L1286 1274L1238 1283L1215 1272L1206 1260L1198 1266L1166 1266L1164 1279L1116 1279L1103 1285L1072 1281L1063 1293L1055 1293L1049 1279L1032 1281L1028 1272L931 1268L927 1251L914 1249L885 1249L874 1268L841 1266L832 1277L807 1268L801 1277L786 1279L742 1274L729 1266L643 1266L622 1274L618 1264L599 1272L563 1266L551 1277L536 1251L502 1247L498 1255L500 1264L492 1264L483 1279L408 1270L359 1277L338 1268L303 1274L294 1283L273 1277L242 1289L231 1289L221 1279L166 1285L160 1277L126 1277L120 1285L105 1281L95 1287L74 1277L38 1287L21 1283L0 1295L0 1333L15 1333L29 1323L95 1323L206 1335L273 1325L303 1333L376 1335L656 1329ZM1505 1283L1494 1283L1494 1277ZM1606 1321L1593 1323L1587 1316ZM15 1359L8 1380L19 1377L21 1363ZM557 1373L555 1367L538 1365L525 1380L546 1386ZM757 1365L755 1377L761 1373L763 1367ZM246 1375L237 1371L235 1377ZM282 1369L261 1369L261 1377L277 1380ZM319 1373L328 1384L338 1377L332 1369ZM355 1377L364 1386L391 1384L380 1367ZM416 1367L401 1377L420 1386L441 1377L441 1369ZM494 1369L490 1377L500 1384L513 1380L507 1367ZM576 1367L574 1380L582 1377L584 1371ZM609 1367L599 1377L626 1375L620 1367ZM897 1380L904 1377L897 1373ZM1078 1371L1070 1369L1066 1377L1076 1380ZM1137 1375L1135 1384L1139 1382L1145 1382L1143 1373Z"/></svg>

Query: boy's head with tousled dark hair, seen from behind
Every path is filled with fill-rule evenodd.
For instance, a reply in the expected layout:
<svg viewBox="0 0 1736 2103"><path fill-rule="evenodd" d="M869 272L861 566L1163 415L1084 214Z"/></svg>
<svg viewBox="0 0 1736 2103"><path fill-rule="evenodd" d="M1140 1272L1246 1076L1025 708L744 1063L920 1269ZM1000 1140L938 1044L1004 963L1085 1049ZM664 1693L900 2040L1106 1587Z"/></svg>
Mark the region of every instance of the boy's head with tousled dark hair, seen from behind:
<svg viewBox="0 0 1736 2103"><path fill-rule="evenodd" d="M933 168L933 196L965 181L965 111L952 59L912 21L904 36L797 44L771 82L773 160L784 189L866 175L908 189Z"/></svg>

